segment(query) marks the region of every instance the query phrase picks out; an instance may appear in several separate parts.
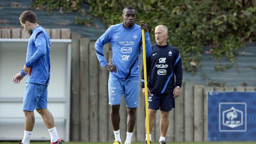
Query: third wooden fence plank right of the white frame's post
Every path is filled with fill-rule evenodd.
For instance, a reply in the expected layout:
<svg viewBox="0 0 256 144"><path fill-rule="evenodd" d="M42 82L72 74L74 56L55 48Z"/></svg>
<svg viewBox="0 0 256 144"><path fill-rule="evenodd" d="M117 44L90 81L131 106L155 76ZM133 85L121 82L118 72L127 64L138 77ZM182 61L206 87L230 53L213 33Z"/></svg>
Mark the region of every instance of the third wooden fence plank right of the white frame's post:
<svg viewBox="0 0 256 144"><path fill-rule="evenodd" d="M99 61L97 59L95 42L89 44L89 107L90 107L90 141L99 140Z"/></svg>

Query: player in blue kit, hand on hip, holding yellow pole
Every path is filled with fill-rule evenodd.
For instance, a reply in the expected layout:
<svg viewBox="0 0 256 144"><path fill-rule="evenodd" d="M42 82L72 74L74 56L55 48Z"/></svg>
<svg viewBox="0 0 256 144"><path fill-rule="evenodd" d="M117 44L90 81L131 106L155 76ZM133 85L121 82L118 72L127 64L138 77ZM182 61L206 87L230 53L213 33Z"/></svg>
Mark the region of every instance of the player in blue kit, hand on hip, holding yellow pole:
<svg viewBox="0 0 256 144"><path fill-rule="evenodd" d="M131 144L136 122L136 109L139 106L141 29L145 30L146 55L150 56L152 52L147 25L144 21L140 21L140 26L138 26L134 23L135 18L135 9L132 6L125 6L122 11L123 23L110 26L95 43L96 55L100 64L110 71L108 95L115 135L114 144L122 144L119 132L119 108L123 93L128 112L125 144ZM106 61L103 52L103 46L108 42L111 43L113 51L111 63Z"/></svg>

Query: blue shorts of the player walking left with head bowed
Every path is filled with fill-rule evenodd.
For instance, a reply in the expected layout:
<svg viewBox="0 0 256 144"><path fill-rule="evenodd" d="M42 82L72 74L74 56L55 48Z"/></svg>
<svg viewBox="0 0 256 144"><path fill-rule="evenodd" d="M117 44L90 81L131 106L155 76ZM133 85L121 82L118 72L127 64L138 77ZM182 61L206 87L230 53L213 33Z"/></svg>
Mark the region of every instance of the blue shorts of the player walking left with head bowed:
<svg viewBox="0 0 256 144"><path fill-rule="evenodd" d="M47 108L47 85L26 83L23 97L23 110L34 111L34 109Z"/></svg>

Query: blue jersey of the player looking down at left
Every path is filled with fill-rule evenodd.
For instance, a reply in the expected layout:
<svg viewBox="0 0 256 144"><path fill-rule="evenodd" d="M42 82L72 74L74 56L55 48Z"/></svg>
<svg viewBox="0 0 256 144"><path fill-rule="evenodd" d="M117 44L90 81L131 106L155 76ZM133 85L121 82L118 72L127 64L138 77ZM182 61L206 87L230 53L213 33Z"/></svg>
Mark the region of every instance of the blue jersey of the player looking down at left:
<svg viewBox="0 0 256 144"><path fill-rule="evenodd" d="M31 67L27 83L49 84L51 40L44 28L37 26L29 38L26 67Z"/></svg>

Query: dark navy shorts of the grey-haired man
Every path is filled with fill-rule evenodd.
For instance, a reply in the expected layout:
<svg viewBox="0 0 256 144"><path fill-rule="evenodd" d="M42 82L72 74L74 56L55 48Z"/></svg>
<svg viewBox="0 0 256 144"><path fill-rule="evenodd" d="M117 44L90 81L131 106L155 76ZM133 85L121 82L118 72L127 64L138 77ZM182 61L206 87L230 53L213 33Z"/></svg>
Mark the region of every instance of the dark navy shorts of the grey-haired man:
<svg viewBox="0 0 256 144"><path fill-rule="evenodd" d="M167 112L172 108L175 108L175 100L172 93L151 94L148 96L148 109L160 109Z"/></svg>

